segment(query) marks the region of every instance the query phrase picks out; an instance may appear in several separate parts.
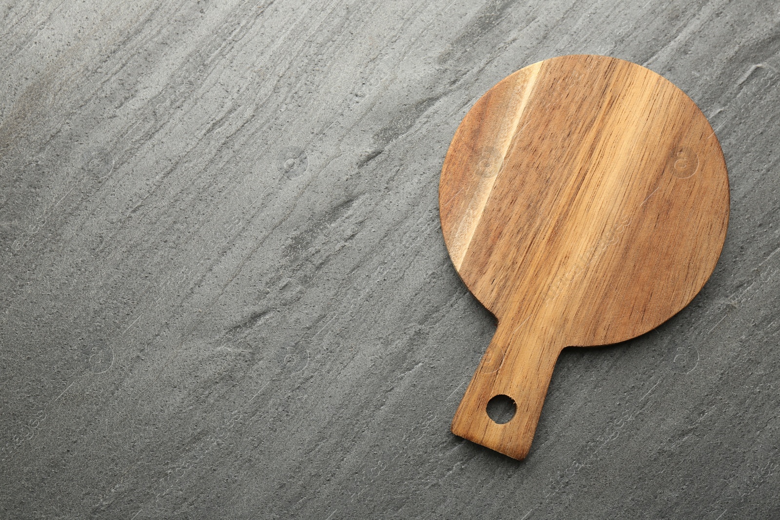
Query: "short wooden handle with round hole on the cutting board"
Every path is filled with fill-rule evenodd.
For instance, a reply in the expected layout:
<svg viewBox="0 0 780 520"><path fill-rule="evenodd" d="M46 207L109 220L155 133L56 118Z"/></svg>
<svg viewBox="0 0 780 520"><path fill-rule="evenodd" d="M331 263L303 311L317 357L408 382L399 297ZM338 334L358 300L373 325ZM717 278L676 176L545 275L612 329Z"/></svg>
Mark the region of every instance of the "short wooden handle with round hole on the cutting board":
<svg viewBox="0 0 780 520"><path fill-rule="evenodd" d="M452 419L452 433L522 460L534 440L555 361L562 350L538 327L498 322L493 339ZM488 401L512 398L516 411L499 424L488 416Z"/></svg>

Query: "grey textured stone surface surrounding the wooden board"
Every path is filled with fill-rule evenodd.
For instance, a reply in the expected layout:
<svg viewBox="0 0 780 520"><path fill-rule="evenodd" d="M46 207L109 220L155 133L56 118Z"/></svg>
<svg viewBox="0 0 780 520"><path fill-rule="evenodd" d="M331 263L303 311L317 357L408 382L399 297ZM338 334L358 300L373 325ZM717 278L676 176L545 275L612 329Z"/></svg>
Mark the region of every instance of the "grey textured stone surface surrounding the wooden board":
<svg viewBox="0 0 780 520"><path fill-rule="evenodd" d="M780 517L780 4L628 3L2 2L0 516ZM571 53L699 104L731 224L516 462L449 433L495 321L438 175Z"/></svg>

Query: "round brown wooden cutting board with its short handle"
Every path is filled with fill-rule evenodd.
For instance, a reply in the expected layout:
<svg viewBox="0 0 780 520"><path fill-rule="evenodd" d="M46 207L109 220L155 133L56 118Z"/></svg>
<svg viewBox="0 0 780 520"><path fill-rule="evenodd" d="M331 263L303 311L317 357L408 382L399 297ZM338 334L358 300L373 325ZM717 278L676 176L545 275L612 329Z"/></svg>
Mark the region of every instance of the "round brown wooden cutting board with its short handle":
<svg viewBox="0 0 780 520"><path fill-rule="evenodd" d="M452 432L521 459L562 348L644 334L702 288L729 178L682 90L631 62L570 55L480 97L447 152L439 205L452 263L498 319ZM486 412L496 396L516 404L508 423Z"/></svg>

